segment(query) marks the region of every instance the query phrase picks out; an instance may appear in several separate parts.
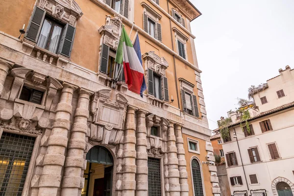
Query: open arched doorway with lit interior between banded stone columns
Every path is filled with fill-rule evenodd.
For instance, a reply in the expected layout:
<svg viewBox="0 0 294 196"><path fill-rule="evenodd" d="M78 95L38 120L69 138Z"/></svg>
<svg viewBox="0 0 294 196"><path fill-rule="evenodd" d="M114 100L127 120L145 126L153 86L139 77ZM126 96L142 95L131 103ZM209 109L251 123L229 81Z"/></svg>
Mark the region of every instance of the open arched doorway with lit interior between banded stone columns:
<svg viewBox="0 0 294 196"><path fill-rule="evenodd" d="M105 147L92 147L87 155L81 196L111 196L113 157Z"/></svg>

